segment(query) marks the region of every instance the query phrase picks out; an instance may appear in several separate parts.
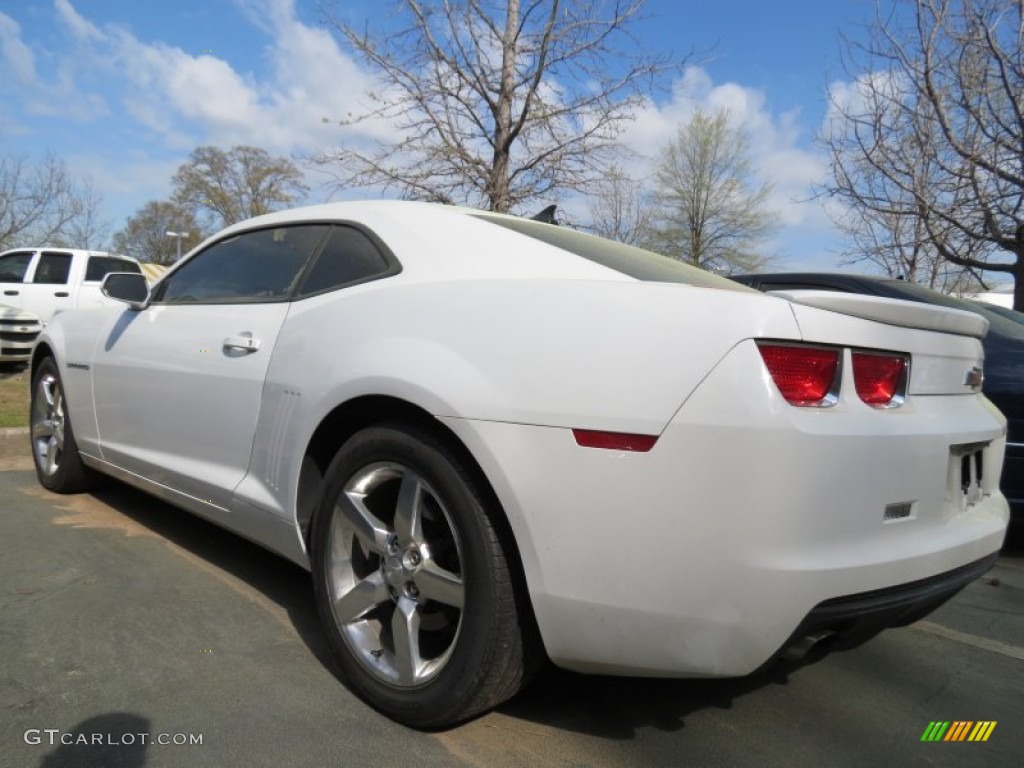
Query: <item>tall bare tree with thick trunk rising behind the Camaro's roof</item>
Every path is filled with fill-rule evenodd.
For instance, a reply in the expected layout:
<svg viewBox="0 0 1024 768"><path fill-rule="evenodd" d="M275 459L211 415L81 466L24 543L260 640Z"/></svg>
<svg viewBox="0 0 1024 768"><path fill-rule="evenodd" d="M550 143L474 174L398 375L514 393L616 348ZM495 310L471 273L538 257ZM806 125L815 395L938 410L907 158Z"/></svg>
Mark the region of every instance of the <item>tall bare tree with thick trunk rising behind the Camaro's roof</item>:
<svg viewBox="0 0 1024 768"><path fill-rule="evenodd" d="M396 143L324 152L339 187L507 212L600 177L616 137L668 56L637 51L644 0L401 0L404 28L333 19L382 80L343 124L384 119Z"/></svg>

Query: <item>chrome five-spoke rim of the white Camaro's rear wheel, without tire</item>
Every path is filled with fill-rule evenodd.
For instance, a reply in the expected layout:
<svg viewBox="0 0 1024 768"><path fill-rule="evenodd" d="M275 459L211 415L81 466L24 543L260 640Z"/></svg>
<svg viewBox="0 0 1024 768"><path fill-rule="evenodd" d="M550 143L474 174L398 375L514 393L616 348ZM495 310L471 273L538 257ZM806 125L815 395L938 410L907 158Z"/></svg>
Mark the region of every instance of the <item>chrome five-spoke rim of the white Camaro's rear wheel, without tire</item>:
<svg viewBox="0 0 1024 768"><path fill-rule="evenodd" d="M416 471L378 462L348 479L325 575L335 623L365 669L398 688L440 673L462 627L462 563L452 518Z"/></svg>

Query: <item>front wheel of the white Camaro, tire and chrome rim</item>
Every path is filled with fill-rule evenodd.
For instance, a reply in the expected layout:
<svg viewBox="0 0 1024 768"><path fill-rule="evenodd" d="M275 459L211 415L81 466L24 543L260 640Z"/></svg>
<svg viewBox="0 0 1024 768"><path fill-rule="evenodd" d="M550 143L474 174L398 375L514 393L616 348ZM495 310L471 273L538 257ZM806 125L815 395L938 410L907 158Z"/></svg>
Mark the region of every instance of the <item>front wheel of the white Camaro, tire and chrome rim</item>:
<svg viewBox="0 0 1024 768"><path fill-rule="evenodd" d="M95 474L78 453L63 384L52 357L40 362L32 377L29 429L36 476L43 487L55 494L77 494L92 486Z"/></svg>

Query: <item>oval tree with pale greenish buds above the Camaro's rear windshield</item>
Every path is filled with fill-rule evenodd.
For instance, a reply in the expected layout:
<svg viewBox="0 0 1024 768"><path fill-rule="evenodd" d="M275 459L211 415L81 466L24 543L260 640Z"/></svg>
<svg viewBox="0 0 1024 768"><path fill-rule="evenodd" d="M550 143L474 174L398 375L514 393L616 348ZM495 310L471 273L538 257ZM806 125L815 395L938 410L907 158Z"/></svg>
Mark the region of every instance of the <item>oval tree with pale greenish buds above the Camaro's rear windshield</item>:
<svg viewBox="0 0 1024 768"><path fill-rule="evenodd" d="M777 228L771 186L751 165L746 134L727 112L697 111L664 150L655 174L651 246L666 256L716 271L751 270Z"/></svg>

